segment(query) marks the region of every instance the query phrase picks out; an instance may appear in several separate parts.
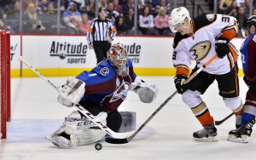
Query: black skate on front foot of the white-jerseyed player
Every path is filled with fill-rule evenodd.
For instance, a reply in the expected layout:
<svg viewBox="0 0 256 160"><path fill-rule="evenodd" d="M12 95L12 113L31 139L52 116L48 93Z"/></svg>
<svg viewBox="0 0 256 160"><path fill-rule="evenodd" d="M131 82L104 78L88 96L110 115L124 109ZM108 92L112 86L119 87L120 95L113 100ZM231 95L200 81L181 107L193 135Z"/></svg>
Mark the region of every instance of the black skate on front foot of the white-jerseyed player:
<svg viewBox="0 0 256 160"><path fill-rule="evenodd" d="M204 126L204 129L201 129L193 133L194 140L197 141L218 141L216 135L217 129L215 128L213 123Z"/></svg>

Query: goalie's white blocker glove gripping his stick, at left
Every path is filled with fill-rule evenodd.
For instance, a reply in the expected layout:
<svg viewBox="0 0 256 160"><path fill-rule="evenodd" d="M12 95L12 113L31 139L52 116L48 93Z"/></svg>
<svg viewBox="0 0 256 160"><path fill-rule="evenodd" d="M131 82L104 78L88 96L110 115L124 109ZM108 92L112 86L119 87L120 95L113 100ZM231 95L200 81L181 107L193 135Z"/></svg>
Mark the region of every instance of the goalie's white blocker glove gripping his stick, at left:
<svg viewBox="0 0 256 160"><path fill-rule="evenodd" d="M58 96L61 105L72 107L78 104L85 92L85 83L76 77L68 77L67 83L62 86Z"/></svg>

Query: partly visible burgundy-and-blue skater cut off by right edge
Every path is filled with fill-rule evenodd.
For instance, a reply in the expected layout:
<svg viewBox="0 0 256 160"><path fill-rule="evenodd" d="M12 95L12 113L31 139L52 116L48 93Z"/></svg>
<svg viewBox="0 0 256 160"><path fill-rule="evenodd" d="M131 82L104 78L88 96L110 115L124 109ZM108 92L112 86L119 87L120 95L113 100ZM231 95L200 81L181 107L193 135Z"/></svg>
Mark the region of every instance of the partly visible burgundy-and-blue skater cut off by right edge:
<svg viewBox="0 0 256 160"><path fill-rule="evenodd" d="M256 16L251 16L242 24L242 35L247 37L241 45L241 62L244 82L248 86L241 127L230 131L228 140L247 143L253 132L256 116Z"/></svg>

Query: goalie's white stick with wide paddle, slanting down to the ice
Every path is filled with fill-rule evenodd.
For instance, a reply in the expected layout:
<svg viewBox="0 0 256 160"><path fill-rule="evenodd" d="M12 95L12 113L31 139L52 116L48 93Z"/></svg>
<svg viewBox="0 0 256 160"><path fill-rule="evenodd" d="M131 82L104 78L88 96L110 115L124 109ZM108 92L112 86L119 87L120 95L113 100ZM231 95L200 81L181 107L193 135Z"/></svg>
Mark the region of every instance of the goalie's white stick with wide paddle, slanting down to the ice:
<svg viewBox="0 0 256 160"><path fill-rule="evenodd" d="M26 60L24 60L22 58L22 56L20 56L20 61L22 61L26 66L28 66L30 69L32 69L32 71L34 71L39 77L42 77L44 79L44 81L46 83L49 83L49 85L51 87L53 87L57 92L60 92L60 90L55 86L54 83L51 83L49 81L48 78L44 77L39 71L37 71L37 69L35 69L33 66L31 66ZM115 139L125 139L127 137L129 137L131 134L134 133L134 131L131 132L125 132L125 133L116 133L113 132L112 129L109 129L108 126L106 126L105 124L103 124L101 121L99 121L98 119L96 119L96 117L94 117L90 111L87 111L84 109L83 106L80 106L79 104L74 105L76 107L76 109L78 109L85 117L87 117L88 119L90 119L90 121L92 121L93 123L96 124L96 126L98 126L100 129L102 129L103 131L105 131L108 135L112 136Z"/></svg>

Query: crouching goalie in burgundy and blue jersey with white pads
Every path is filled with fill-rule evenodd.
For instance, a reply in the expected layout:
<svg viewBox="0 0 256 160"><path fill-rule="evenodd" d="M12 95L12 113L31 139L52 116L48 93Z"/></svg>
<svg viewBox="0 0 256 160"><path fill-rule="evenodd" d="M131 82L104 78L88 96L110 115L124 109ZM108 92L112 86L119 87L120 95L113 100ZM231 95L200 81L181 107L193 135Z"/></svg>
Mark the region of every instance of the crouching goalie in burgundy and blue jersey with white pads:
<svg viewBox="0 0 256 160"><path fill-rule="evenodd" d="M134 112L119 112L118 107L125 100L128 90L137 93L145 103L152 102L158 92L155 85L137 77L127 51L123 45L116 43L108 50L107 60L102 60L91 71L68 77L58 101L63 106L79 103L102 123L107 123L109 129L127 132L136 129L136 116ZM55 146L73 148L96 142L104 136L105 132L96 124L79 111L73 111L49 140Z"/></svg>

